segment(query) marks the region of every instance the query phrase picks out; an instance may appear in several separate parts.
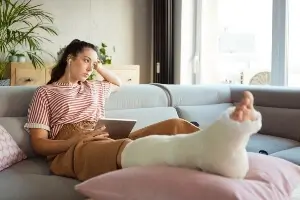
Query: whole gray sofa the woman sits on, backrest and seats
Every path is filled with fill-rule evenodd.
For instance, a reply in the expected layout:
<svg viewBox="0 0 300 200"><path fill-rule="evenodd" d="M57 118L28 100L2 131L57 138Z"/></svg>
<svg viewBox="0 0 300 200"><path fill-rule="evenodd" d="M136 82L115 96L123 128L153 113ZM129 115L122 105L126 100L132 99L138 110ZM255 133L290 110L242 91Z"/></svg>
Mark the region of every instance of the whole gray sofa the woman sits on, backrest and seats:
<svg viewBox="0 0 300 200"><path fill-rule="evenodd" d="M0 199L84 199L74 191L78 181L52 175L45 160L30 146L23 125L35 89L0 87L0 124L28 155L28 159L0 172ZM197 121L201 128L206 128L226 108L236 103L244 90L254 93L256 108L263 115L263 127L251 138L247 150L265 150L273 156L300 164L298 89L230 85L123 86L109 98L106 116L135 118L138 123L134 130L177 117Z"/></svg>

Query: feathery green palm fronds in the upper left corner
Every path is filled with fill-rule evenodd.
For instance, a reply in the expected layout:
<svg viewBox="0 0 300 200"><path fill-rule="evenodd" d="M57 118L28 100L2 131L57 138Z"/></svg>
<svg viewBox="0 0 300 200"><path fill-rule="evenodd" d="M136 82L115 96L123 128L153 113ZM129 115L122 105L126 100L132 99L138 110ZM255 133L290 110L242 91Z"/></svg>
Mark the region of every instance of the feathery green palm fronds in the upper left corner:
<svg viewBox="0 0 300 200"><path fill-rule="evenodd" d="M42 32L57 35L57 31L52 27L52 15L41 6L32 5L31 0L0 0L0 54L6 55L4 61L16 48L24 49L34 68L44 66L41 54L52 56L42 48L45 41L51 42Z"/></svg>

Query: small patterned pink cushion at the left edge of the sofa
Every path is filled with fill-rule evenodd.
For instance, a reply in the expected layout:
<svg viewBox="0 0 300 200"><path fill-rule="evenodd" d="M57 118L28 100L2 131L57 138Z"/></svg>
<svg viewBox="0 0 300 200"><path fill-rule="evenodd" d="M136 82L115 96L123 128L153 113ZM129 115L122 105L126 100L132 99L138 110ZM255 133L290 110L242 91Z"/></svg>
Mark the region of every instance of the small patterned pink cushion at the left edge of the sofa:
<svg viewBox="0 0 300 200"><path fill-rule="evenodd" d="M26 158L12 136L0 125L0 171Z"/></svg>

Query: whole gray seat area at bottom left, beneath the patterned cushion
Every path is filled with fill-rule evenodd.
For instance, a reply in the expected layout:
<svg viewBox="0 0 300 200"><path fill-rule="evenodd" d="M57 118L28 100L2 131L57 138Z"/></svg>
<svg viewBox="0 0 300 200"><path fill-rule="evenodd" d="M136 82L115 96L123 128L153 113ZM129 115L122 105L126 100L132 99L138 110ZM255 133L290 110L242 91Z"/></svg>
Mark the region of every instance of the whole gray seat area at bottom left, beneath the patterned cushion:
<svg viewBox="0 0 300 200"><path fill-rule="evenodd" d="M0 199L82 200L83 196L74 190L78 183L51 175L45 159L30 158L0 172Z"/></svg>

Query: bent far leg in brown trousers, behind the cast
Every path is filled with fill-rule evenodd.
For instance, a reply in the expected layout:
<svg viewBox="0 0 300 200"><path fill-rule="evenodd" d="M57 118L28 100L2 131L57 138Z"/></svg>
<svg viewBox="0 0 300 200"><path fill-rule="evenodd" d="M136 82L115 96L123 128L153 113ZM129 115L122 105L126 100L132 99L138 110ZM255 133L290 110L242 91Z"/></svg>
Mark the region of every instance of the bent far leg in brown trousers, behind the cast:
<svg viewBox="0 0 300 200"><path fill-rule="evenodd" d="M135 140L149 135L189 134L199 130L200 129L197 126L184 119L173 118L134 131L130 133L129 138Z"/></svg>

